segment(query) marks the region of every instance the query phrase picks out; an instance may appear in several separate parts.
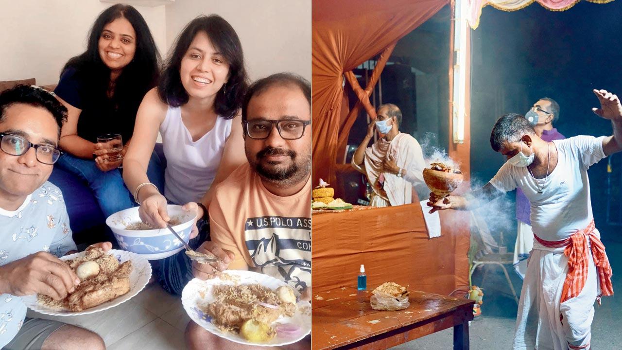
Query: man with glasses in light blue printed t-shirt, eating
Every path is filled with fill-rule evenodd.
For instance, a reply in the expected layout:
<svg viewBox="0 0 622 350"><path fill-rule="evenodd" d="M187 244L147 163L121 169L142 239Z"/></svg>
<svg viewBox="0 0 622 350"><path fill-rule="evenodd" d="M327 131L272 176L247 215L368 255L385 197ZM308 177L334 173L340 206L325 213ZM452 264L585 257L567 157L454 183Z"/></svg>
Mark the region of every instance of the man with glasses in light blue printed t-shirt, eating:
<svg viewBox="0 0 622 350"><path fill-rule="evenodd" d="M63 196L47 182L60 156L58 135L66 119L67 108L39 88L20 85L0 93L2 349L105 348L100 336L86 329L26 318L19 298L41 293L61 300L80 283L58 259L76 245Z"/></svg>

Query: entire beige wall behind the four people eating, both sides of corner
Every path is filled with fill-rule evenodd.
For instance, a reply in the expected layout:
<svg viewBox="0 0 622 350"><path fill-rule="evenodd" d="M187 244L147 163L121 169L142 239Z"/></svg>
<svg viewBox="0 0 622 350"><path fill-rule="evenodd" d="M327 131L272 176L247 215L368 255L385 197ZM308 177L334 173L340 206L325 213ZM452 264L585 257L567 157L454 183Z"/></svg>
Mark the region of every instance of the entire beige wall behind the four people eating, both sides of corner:
<svg viewBox="0 0 622 350"><path fill-rule="evenodd" d="M0 80L57 83L65 62L86 49L90 27L109 6L99 0L0 0ZM282 71L311 78L310 0L176 0L135 7L163 57L185 24L215 13L238 32L251 79Z"/></svg>

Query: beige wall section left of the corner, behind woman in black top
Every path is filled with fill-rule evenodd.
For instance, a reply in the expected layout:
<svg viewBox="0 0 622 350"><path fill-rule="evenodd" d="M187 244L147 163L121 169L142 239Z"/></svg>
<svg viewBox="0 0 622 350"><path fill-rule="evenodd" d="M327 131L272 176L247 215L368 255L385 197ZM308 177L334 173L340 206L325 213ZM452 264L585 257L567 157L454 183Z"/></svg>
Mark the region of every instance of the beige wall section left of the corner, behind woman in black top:
<svg viewBox="0 0 622 350"><path fill-rule="evenodd" d="M99 0L0 0L0 80L34 77L39 85L57 83L67 60L86 50L86 35L98 14L111 5ZM135 7L165 55L165 7Z"/></svg>

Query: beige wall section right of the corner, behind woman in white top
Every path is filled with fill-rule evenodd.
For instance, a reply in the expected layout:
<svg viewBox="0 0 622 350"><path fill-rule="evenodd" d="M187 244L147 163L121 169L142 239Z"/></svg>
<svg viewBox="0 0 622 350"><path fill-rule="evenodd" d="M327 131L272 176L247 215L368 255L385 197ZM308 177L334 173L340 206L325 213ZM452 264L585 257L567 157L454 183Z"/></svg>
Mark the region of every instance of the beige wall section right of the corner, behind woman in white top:
<svg viewBox="0 0 622 350"><path fill-rule="evenodd" d="M311 80L310 0L176 0L166 6L169 47L200 14L218 14L235 29L251 80L277 72Z"/></svg>

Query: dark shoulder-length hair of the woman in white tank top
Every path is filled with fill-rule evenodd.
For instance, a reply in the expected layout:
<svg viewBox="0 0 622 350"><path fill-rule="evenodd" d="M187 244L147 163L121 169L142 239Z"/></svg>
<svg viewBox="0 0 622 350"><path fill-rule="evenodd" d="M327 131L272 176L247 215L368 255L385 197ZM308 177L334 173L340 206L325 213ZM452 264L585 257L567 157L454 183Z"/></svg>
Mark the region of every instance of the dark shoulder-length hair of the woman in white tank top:
<svg viewBox="0 0 622 350"><path fill-rule="evenodd" d="M162 102L179 107L188 102L188 93L183 88L179 70L183 56L192 44L198 32L205 32L211 44L225 58L229 65L229 79L226 89L216 94L214 109L218 115L231 119L238 114L239 107L248 88L248 77L244 67L244 54L238 34L229 22L215 14L198 16L183 28L175 40L174 49L162 71L162 78L158 83L158 92Z"/></svg>

